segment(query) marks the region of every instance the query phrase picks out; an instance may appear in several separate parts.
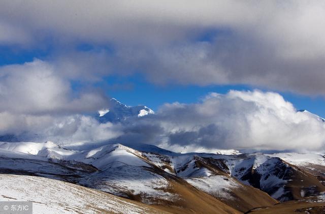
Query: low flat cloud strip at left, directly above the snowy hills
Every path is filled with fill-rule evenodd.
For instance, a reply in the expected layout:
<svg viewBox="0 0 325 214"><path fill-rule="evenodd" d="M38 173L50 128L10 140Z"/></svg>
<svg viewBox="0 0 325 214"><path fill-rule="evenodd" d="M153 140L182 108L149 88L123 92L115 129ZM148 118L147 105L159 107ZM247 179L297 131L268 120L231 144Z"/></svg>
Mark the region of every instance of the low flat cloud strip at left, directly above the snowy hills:
<svg viewBox="0 0 325 214"><path fill-rule="evenodd" d="M91 116L11 114L1 112L2 141L54 141L61 144L76 142L99 143L123 134L119 125L100 124Z"/></svg>

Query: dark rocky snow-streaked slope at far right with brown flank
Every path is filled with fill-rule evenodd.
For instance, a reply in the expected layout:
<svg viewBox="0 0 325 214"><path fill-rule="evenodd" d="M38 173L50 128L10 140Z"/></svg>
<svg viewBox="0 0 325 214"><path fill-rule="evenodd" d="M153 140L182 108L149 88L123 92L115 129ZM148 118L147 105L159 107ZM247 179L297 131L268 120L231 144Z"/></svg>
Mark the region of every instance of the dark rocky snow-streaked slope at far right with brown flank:
<svg viewBox="0 0 325 214"><path fill-rule="evenodd" d="M245 154L236 159L225 159L224 163L227 166L225 172L280 201L301 199L325 191L315 176L280 158Z"/></svg>

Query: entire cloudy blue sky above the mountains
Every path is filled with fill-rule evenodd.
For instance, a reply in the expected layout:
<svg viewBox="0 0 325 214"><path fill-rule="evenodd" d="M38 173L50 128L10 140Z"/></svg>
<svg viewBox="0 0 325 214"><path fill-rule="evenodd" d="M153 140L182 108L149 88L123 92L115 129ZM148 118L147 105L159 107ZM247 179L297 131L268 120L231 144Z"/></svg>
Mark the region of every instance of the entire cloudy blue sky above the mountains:
<svg viewBox="0 0 325 214"><path fill-rule="evenodd" d="M0 135L194 150L307 149L307 136L317 150L324 125L297 110L325 117L324 22L323 1L2 1ZM98 124L89 117L112 97L152 108L154 121ZM179 106L187 112L166 116ZM189 113L202 123L183 121ZM226 119L233 122L220 124ZM250 134L231 130L236 121ZM277 142L255 130L259 122ZM164 138L141 130L150 123Z"/></svg>

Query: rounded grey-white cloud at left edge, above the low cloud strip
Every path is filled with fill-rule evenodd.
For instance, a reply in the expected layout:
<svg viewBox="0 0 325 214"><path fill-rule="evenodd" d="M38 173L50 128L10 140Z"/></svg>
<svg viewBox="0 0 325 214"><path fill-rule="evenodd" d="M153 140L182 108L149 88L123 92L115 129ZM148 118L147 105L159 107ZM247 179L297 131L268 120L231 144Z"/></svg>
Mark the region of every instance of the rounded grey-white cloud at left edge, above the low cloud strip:
<svg viewBox="0 0 325 214"><path fill-rule="evenodd" d="M0 67L0 112L69 114L107 105L108 99L100 91L75 93L70 81L42 60Z"/></svg>

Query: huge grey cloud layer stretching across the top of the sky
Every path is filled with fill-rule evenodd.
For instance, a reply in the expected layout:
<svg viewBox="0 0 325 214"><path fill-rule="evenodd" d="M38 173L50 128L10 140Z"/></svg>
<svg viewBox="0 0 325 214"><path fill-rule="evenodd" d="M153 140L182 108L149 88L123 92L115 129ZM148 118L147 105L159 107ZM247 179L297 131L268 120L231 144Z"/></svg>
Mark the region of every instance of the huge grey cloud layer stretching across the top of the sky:
<svg viewBox="0 0 325 214"><path fill-rule="evenodd" d="M80 43L111 45L114 53L102 54L103 67L109 62L120 74L142 72L159 84L249 84L325 94L322 1L5 1L0 14L2 42L50 41L64 52ZM86 66L71 76L112 72L96 70Z"/></svg>

